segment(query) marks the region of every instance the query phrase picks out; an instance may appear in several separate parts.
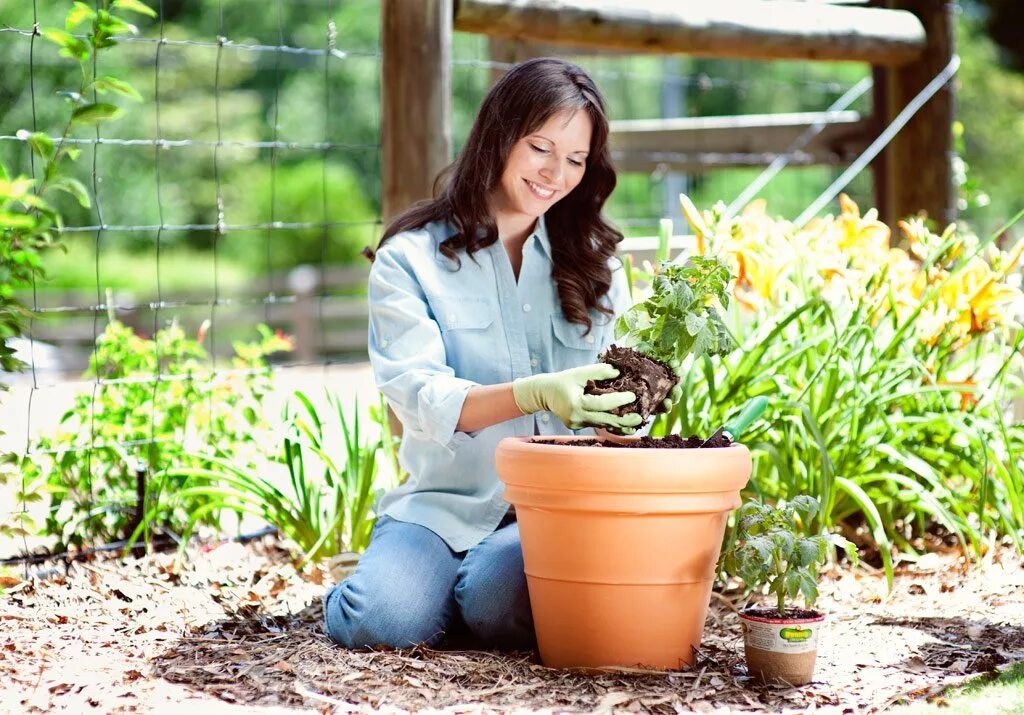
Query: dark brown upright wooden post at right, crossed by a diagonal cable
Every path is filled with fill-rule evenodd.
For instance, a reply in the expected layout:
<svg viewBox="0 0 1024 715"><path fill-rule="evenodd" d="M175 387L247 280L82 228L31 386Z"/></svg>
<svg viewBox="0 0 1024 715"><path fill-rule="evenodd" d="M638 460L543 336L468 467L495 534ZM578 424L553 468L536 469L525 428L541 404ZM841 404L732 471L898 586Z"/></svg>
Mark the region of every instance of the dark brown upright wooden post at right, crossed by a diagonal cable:
<svg viewBox="0 0 1024 715"><path fill-rule="evenodd" d="M882 0L909 10L925 26L927 43L918 61L876 68L874 115L881 131L946 65L955 51L955 6L938 0ZM927 211L939 230L956 220L952 181L954 83L940 89L893 139L873 164L874 195L883 221Z"/></svg>

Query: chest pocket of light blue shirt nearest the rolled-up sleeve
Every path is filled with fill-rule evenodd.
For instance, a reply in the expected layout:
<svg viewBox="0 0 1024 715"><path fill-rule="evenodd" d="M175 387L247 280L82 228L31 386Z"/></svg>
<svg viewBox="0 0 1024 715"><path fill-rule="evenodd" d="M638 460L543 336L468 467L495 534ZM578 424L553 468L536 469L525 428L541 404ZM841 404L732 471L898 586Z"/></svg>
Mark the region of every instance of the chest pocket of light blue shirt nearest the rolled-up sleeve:
<svg viewBox="0 0 1024 715"><path fill-rule="evenodd" d="M496 333L497 307L475 296L430 296L430 305L441 330L445 362L456 377L496 382L496 360L504 354L508 362L505 341Z"/></svg>

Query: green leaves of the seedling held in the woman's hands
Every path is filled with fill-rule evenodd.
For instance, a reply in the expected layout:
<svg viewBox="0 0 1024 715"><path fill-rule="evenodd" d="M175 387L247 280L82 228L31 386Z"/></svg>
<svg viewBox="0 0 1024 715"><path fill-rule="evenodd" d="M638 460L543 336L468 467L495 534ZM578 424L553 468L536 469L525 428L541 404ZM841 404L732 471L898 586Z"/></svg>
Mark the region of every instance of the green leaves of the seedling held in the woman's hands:
<svg viewBox="0 0 1024 715"><path fill-rule="evenodd" d="M651 294L620 316L615 338L666 364L728 352L733 339L712 301L728 307L731 279L717 258L693 256L685 265L663 261Z"/></svg>

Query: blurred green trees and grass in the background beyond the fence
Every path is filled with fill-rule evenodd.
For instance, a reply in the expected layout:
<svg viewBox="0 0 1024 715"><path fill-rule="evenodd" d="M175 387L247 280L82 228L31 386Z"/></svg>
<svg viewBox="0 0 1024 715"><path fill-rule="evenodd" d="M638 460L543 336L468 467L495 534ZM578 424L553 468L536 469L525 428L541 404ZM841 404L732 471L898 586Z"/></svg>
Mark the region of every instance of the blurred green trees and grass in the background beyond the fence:
<svg viewBox="0 0 1024 715"><path fill-rule="evenodd" d="M95 151L83 145L77 171L86 185L95 186L96 205L92 210L70 203L63 207L72 226L136 228L69 233L68 253L47 258L50 278L39 290L81 288L99 295L110 287L131 290L138 300L152 299L158 242L165 296L174 291L212 294L215 285L221 295L229 294L262 285L268 275L296 264L361 260L359 250L375 243L381 230L379 2L161 4L162 32L169 42L154 42L161 25L146 22L138 41L114 48L98 71L128 80L143 97L123 119L104 125L104 137L160 137L171 143L159 149L102 143ZM42 27L61 25L63 2L4 3L0 25L31 29L34 5ZM979 232L1021 205L1021 7L1017 0L962 4L962 209ZM275 51L279 46L294 49ZM486 40L456 33L453 58L458 150L488 86ZM593 73L612 119L821 111L868 72L850 64L572 58ZM18 129L33 127L55 131L62 109L55 92L71 85L74 65L58 57L51 44L33 43L14 31L0 33L0 134L12 137ZM869 93L853 109L869 112L868 102ZM216 149L212 142L218 139L228 143ZM273 141L286 144L246 145ZM324 142L330 145L324 148ZM0 140L0 161L15 172L30 169L27 146L11 138ZM762 196L772 214L793 218L839 171L787 168ZM680 187L707 206L732 200L758 173L622 174L608 213L627 234L652 235L658 217L677 214L673 197ZM858 177L849 193L869 206L869 174ZM218 221L239 228L219 234L210 227ZM333 225L252 227L274 221Z"/></svg>

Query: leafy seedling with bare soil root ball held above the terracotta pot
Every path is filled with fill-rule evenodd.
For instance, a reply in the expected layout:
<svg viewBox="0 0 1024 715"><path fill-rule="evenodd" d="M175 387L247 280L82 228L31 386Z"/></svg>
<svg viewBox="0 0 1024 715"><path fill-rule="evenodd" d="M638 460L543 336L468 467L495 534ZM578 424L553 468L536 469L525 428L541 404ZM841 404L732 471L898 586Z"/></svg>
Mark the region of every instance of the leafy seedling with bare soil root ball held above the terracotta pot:
<svg viewBox="0 0 1024 715"><path fill-rule="evenodd" d="M629 391L636 401L611 412L638 413L646 422L679 382L688 355L724 354L734 341L715 301L729 305L729 268L718 258L693 256L680 265L662 261L651 295L615 323L615 344L599 358L618 369L611 380L590 381L588 394Z"/></svg>

